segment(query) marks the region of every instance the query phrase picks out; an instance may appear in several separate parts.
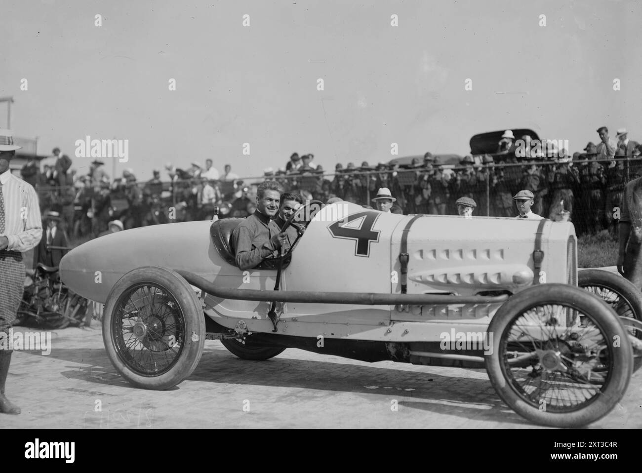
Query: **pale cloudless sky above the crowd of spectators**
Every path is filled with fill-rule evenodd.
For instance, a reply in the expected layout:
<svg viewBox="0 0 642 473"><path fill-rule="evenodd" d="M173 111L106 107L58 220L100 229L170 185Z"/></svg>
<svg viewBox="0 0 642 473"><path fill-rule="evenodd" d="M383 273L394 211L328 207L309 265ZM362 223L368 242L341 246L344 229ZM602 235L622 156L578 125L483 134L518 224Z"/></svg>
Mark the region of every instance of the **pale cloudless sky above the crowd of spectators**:
<svg viewBox="0 0 642 473"><path fill-rule="evenodd" d="M207 158L259 176L294 151L326 170L376 164L392 143L464 155L474 134L508 128L573 152L599 126L642 141L641 13L591 0L3 0L0 96L39 154L58 146L85 173L76 140L127 139L116 174L141 180Z"/></svg>

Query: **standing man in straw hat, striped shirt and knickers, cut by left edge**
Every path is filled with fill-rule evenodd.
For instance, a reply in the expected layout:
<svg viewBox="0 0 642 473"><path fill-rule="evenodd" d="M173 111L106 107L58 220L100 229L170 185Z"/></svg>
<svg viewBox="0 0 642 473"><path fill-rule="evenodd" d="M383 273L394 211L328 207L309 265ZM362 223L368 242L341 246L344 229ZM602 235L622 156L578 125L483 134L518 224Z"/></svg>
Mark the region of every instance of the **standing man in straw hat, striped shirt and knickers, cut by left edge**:
<svg viewBox="0 0 642 473"><path fill-rule="evenodd" d="M36 191L9 168L20 148L13 142L11 130L0 130L0 338L8 337L22 298L22 254L38 245L42 237ZM0 340L0 347L2 344ZM0 349L0 413L19 414L20 408L4 395L11 356L12 350Z"/></svg>

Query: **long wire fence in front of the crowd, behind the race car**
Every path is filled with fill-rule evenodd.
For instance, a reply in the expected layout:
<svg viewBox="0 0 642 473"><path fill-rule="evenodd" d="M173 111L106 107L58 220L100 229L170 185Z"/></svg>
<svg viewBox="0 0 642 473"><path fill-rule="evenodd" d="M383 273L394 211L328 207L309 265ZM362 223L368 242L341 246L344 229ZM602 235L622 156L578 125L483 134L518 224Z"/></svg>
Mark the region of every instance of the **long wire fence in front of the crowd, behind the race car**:
<svg viewBox="0 0 642 473"><path fill-rule="evenodd" d="M254 211L256 185L266 179L276 180L285 191L299 191L304 200L326 202L331 197L338 197L365 206L374 206L372 198L378 189L387 187L397 199L393 211L403 214L456 215L456 200L466 196L476 202L476 216L512 217L517 214L512 196L518 191L529 190L535 196L532 207L535 214L557 219L568 212L581 234L612 228L614 208L621 205L625 184L641 174L641 159L620 158L492 162L455 167L422 165L336 173L309 169L226 182L193 178L97 187L37 185L37 191L43 212L55 207L71 221L87 218L87 214L94 218L102 212L106 225L108 219L145 213L152 207L155 212L164 214L165 218L155 219L157 221L139 215L132 225L140 226L211 217L204 209L213 205L236 205L240 212L229 216L245 216ZM239 200L245 207L238 205ZM107 201L108 210L105 210ZM172 209L178 214L170 215Z"/></svg>

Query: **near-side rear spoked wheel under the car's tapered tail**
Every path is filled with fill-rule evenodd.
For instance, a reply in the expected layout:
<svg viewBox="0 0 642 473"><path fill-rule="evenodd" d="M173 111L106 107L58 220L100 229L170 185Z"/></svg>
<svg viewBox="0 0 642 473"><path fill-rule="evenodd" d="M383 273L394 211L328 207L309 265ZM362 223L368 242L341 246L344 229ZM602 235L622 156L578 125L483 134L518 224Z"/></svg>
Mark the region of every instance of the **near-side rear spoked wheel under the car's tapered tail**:
<svg viewBox="0 0 642 473"><path fill-rule="evenodd" d="M103 341L110 361L139 388L164 390L186 379L205 343L205 318L187 281L148 266L126 273L108 295Z"/></svg>

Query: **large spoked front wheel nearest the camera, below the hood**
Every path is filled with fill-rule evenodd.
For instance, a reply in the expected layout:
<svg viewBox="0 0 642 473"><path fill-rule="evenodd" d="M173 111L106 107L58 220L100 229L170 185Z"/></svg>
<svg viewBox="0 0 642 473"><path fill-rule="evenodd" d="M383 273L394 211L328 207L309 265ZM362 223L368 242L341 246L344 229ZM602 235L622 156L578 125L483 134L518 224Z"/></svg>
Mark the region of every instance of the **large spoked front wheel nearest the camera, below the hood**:
<svg viewBox="0 0 642 473"><path fill-rule="evenodd" d="M553 427L590 424L620 401L632 372L627 331L602 300L566 284L525 289L489 325L490 383L519 415Z"/></svg>

